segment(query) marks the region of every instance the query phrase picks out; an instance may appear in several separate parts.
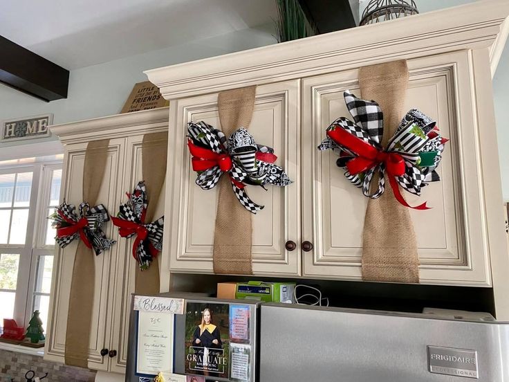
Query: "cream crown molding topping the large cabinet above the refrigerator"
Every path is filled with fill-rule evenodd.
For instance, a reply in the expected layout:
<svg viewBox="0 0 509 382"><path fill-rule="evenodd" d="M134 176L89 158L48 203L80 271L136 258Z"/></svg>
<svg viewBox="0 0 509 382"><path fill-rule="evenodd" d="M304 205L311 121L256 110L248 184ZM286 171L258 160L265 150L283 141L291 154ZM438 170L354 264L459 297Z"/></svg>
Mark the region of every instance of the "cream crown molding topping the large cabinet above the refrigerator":
<svg viewBox="0 0 509 382"><path fill-rule="evenodd" d="M379 24L263 46L144 73L167 100L488 48L492 75L509 33L509 1L482 0Z"/></svg>

